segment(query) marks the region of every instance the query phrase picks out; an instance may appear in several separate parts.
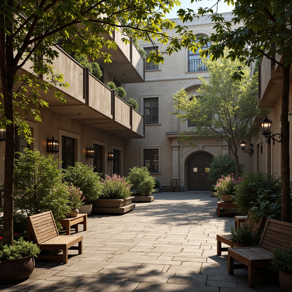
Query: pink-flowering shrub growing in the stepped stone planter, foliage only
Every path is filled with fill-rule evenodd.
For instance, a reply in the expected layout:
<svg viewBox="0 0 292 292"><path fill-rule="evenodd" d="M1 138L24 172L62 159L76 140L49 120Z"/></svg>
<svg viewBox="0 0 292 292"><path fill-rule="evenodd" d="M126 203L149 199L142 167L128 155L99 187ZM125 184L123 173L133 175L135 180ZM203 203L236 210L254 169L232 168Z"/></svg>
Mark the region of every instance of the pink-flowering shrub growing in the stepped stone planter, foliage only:
<svg viewBox="0 0 292 292"><path fill-rule="evenodd" d="M102 194L99 199L126 199L131 196L131 185L126 182L124 177L113 174L105 176L102 180Z"/></svg>

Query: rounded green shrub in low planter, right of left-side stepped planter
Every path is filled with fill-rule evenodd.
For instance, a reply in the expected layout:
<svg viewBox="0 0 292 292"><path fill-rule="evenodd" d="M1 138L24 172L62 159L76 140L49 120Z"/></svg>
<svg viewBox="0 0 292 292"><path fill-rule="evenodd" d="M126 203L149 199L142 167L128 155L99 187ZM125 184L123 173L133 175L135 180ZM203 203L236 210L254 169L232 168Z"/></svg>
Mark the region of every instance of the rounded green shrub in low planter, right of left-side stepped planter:
<svg viewBox="0 0 292 292"><path fill-rule="evenodd" d="M155 178L146 167L130 168L126 180L132 185L131 191L135 196L148 197L154 192Z"/></svg>

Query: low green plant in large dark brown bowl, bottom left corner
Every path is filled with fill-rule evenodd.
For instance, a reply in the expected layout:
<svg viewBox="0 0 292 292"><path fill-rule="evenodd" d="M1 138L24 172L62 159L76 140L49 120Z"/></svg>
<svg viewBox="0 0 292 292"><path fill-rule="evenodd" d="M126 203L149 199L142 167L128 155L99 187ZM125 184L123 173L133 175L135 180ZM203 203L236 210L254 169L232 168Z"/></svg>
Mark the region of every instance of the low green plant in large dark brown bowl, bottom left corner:
<svg viewBox="0 0 292 292"><path fill-rule="evenodd" d="M32 242L20 238L14 245L3 245L0 237L0 283L11 284L29 277L34 270L34 257L40 249Z"/></svg>

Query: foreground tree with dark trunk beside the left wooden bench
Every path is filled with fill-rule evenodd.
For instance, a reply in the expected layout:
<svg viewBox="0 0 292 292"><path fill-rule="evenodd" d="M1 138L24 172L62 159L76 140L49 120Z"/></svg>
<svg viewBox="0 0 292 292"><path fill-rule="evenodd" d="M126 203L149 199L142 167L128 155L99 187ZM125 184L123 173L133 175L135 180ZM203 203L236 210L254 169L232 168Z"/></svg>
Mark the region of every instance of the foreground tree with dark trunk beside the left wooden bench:
<svg viewBox="0 0 292 292"><path fill-rule="evenodd" d="M40 121L38 107L48 104L40 99L39 91L55 91L63 99L56 86L69 86L63 75L54 71L52 60L58 58L54 43L62 44L68 53L91 56L93 60L112 62L102 48L117 48L114 41L104 36L114 29L124 34L133 29L133 38L147 41L157 40L168 47L171 54L181 46L192 46L194 35L184 27L177 27L179 36L168 37L163 29L175 28L175 22L164 18L178 0L6 0L0 2L0 71L1 98L0 128L6 128L5 148L5 200L4 200L4 244L13 244L13 180L15 125L19 133L32 141L27 115ZM120 19L128 22L122 24ZM163 61L162 53L155 51L148 60ZM21 67L32 62L32 74L21 73ZM63 72L65 73L65 72ZM48 76L42 80L39 77Z"/></svg>

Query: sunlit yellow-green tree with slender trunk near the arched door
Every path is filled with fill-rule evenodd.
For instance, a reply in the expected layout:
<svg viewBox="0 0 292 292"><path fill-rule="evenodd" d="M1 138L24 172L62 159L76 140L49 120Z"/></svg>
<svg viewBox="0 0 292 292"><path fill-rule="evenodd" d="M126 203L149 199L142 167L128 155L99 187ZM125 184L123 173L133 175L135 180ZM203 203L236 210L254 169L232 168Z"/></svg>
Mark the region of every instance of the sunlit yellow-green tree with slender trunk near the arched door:
<svg viewBox="0 0 292 292"><path fill-rule="evenodd" d="M195 143L206 137L225 140L234 156L238 176L240 168L237 151L240 142L256 134L252 117L263 111L257 107L258 74L256 72L254 78L249 80L250 70L244 67L244 77L240 81L232 81L232 74L241 66L238 60L220 58L218 62L212 62L208 58L202 62L210 73L209 81L199 76L202 85L197 91L197 97L187 95L183 89L174 94L175 111L172 114L194 124L190 131L182 135L183 139L192 139Z"/></svg>

